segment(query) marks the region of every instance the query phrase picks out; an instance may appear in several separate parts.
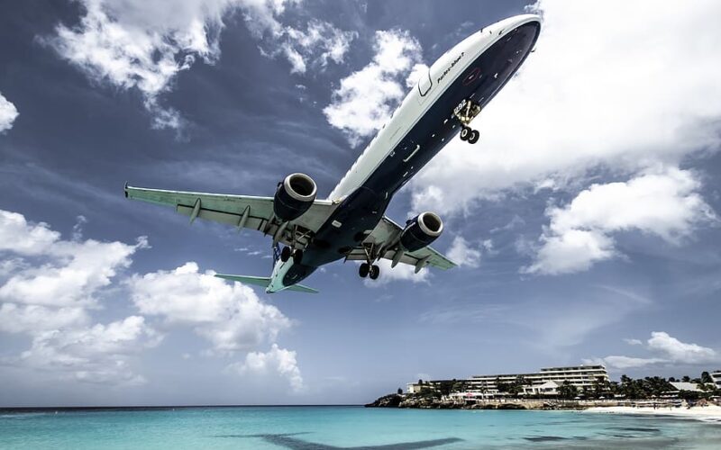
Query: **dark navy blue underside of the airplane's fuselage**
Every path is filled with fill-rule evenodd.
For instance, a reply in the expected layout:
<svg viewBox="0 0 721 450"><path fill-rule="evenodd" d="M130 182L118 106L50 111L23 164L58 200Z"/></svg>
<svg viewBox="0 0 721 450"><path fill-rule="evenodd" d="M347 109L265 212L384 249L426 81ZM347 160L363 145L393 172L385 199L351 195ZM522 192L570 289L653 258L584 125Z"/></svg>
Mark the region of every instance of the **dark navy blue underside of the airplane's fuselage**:
<svg viewBox="0 0 721 450"><path fill-rule="evenodd" d="M461 122L452 114L454 108L464 99L471 99L481 107L488 104L533 49L539 30L537 22L508 30L449 78L450 85L383 157L379 158L379 148L367 149L333 191L343 193L342 202L316 232L304 254L304 265L322 266L345 257L358 246L365 233L374 229L383 217L393 194L460 132ZM379 133L377 139L383 137ZM370 170L376 158L379 163ZM362 171L370 175L353 188Z"/></svg>

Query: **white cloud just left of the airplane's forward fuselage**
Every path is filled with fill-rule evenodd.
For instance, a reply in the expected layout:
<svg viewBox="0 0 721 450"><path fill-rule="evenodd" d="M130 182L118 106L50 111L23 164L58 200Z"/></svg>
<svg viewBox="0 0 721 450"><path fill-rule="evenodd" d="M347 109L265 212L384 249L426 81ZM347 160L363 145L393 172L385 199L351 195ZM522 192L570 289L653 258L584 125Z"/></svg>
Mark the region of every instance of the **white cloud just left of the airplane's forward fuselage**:
<svg viewBox="0 0 721 450"><path fill-rule="evenodd" d="M408 71L417 71L422 58L421 45L407 31L376 31L373 49L373 60L343 78L323 110L353 146L388 121L406 94Z"/></svg>

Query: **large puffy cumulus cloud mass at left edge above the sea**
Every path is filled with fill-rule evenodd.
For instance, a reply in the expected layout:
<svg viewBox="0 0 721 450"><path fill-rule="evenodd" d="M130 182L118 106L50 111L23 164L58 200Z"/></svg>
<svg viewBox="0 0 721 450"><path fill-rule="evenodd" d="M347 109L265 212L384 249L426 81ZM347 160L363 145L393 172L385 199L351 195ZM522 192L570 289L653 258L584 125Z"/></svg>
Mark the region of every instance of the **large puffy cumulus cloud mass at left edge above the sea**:
<svg viewBox="0 0 721 450"><path fill-rule="evenodd" d="M46 223L0 211L0 257L11 262L0 284L0 331L32 338L32 347L5 364L49 371L79 382L137 384L132 355L160 336L139 316L91 325L97 296L131 256L145 247L61 238Z"/></svg>

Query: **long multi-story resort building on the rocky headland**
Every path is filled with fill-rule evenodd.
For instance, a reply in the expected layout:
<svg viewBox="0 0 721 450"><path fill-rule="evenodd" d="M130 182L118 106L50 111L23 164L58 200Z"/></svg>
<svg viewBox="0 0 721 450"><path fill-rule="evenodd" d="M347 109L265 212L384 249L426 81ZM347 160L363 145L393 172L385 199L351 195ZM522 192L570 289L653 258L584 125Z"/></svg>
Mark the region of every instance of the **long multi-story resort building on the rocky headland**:
<svg viewBox="0 0 721 450"><path fill-rule="evenodd" d="M596 383L607 383L608 373L603 365L573 365L570 367L546 367L539 372L529 374L496 374L474 375L465 380L456 380L463 383L466 394L477 394L479 397L496 397L500 392L498 384L519 383L523 386L525 395L557 395L561 384L568 382L579 391L584 388L592 389ZM423 387L438 388L448 380L432 380L419 383L408 383L407 392L420 392Z"/></svg>

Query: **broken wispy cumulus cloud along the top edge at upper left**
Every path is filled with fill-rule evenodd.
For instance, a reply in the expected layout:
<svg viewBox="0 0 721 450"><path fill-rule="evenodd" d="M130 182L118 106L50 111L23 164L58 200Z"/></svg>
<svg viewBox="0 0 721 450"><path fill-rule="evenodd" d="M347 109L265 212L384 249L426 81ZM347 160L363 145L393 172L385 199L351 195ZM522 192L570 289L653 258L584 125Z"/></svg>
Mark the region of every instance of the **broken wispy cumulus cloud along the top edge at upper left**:
<svg viewBox="0 0 721 450"><path fill-rule="evenodd" d="M59 55L80 67L96 82L122 89L137 88L155 128L179 128L183 120L160 104L178 73L202 59L220 58L224 17L242 11L244 22L259 40L270 41L269 56L283 54L295 72L306 64L324 67L342 62L352 32L313 21L306 30L283 26L278 16L298 0L79 0L85 12L78 26L60 24L46 40Z"/></svg>

